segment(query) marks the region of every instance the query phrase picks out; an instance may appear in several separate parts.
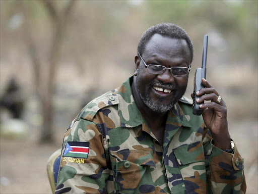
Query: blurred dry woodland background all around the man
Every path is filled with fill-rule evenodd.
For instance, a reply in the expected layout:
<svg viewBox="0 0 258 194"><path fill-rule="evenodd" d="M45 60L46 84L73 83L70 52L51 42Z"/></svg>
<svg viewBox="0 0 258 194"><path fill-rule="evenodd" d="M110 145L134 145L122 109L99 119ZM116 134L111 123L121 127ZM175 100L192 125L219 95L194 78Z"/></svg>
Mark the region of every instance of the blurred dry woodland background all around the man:
<svg viewBox="0 0 258 194"><path fill-rule="evenodd" d="M170 22L195 46L185 95L209 35L207 79L228 108L258 193L258 1L0 1L0 192L51 193L49 156L80 110L133 74L142 33Z"/></svg>

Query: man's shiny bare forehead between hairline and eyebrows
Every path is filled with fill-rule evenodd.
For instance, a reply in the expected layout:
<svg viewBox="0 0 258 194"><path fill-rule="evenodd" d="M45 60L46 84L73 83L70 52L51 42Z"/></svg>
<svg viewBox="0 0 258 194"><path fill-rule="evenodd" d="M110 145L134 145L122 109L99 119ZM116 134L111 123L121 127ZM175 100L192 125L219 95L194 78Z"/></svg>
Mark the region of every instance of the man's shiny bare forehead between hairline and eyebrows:
<svg viewBox="0 0 258 194"><path fill-rule="evenodd" d="M190 50L186 40L154 34L143 52L145 57L183 58L190 63Z"/></svg>

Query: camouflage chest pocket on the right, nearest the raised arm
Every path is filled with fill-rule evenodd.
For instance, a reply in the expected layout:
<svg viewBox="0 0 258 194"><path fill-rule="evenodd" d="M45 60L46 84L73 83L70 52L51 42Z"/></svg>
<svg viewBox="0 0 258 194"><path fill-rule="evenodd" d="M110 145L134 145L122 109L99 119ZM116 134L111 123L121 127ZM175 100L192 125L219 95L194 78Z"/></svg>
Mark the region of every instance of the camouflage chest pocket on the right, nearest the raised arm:
<svg viewBox="0 0 258 194"><path fill-rule="evenodd" d="M206 168L202 141L173 150L186 193L206 193Z"/></svg>

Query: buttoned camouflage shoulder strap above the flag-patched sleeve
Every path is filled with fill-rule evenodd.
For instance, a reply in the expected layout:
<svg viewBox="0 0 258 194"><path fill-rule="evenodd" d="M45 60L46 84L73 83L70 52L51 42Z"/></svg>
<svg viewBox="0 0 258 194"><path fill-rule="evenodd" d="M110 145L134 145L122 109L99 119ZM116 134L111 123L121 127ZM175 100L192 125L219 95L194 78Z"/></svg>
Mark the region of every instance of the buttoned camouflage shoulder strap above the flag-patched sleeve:
<svg viewBox="0 0 258 194"><path fill-rule="evenodd" d="M92 121L94 116L100 109L108 106L113 106L119 104L118 97L116 95L117 89L113 89L98 98L92 100L88 105L86 105L77 117L77 120L86 119Z"/></svg>

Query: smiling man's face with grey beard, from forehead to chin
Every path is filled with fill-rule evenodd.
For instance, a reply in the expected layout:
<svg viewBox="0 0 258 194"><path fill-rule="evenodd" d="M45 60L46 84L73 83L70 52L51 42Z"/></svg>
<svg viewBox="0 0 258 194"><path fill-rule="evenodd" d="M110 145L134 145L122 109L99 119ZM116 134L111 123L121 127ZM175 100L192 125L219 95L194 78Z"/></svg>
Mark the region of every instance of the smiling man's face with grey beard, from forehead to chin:
<svg viewBox="0 0 258 194"><path fill-rule="evenodd" d="M146 44L142 58L147 65L165 67L189 67L190 51L183 39L163 37L154 34ZM174 76L166 69L162 74L151 74L141 58L136 57L136 87L144 104L152 111L165 113L184 94L188 74ZM161 88L163 89L162 91ZM165 90L166 89L166 90Z"/></svg>

